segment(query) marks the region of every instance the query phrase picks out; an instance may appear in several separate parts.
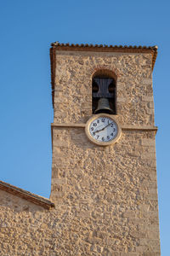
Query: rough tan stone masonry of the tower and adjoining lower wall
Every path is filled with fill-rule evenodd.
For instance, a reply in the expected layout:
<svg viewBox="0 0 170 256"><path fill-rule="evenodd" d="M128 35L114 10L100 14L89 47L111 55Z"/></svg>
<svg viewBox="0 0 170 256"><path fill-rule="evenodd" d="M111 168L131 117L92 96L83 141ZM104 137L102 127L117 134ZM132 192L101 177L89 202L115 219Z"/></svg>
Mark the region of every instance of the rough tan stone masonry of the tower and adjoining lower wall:
<svg viewBox="0 0 170 256"><path fill-rule="evenodd" d="M120 124L153 127L150 54L64 51L56 54L54 124L88 120L99 68L116 73ZM55 208L0 190L0 255L160 256L155 135L123 130L99 147L82 127L54 127Z"/></svg>

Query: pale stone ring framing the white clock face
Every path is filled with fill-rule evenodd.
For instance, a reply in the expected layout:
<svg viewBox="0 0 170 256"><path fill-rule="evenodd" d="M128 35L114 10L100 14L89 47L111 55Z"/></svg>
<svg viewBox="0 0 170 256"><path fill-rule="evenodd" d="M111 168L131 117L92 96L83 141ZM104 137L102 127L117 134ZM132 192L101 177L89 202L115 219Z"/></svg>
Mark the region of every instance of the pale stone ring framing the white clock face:
<svg viewBox="0 0 170 256"><path fill-rule="evenodd" d="M99 141L96 141L94 139L94 137L91 136L90 131L89 131L89 126L94 121L94 119L98 119L99 117L110 118L116 123L116 125L117 125L117 135L113 140L111 140L109 142L99 142ZM115 115L108 114L108 113L98 113L98 114L94 114L90 119L88 119L88 122L86 123L86 126L85 126L85 132L86 132L86 135L87 135L88 139L92 143L97 144L99 146L109 146L109 145L111 145L113 143L116 143L118 141L118 139L121 137L122 129L121 129L121 126L119 125L119 123L117 122L117 120L115 118Z"/></svg>

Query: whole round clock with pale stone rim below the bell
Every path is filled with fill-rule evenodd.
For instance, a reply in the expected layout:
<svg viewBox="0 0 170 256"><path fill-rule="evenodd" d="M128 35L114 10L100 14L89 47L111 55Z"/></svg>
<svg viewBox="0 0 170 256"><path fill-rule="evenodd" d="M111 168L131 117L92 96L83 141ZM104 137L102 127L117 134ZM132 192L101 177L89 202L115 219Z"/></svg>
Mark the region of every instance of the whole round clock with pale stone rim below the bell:
<svg viewBox="0 0 170 256"><path fill-rule="evenodd" d="M100 146L111 145L121 137L121 127L111 114L99 113L88 119L85 128L88 139Z"/></svg>

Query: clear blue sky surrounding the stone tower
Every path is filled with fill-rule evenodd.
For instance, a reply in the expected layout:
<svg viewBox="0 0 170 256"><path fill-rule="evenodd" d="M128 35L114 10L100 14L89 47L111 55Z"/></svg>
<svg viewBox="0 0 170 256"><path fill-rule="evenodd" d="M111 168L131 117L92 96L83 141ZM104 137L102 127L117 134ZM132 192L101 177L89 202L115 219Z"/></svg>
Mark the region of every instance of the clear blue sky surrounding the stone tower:
<svg viewBox="0 0 170 256"><path fill-rule="evenodd" d="M170 2L6 0L0 3L0 179L48 197L51 178L49 47L158 45L153 73L161 255L170 255Z"/></svg>

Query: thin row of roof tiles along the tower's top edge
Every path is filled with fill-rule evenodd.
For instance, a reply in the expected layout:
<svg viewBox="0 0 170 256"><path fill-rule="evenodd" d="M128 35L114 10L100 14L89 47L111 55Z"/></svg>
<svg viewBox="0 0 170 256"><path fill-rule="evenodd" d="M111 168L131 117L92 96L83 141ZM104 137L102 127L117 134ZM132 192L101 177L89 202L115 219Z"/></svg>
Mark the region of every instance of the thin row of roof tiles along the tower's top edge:
<svg viewBox="0 0 170 256"><path fill-rule="evenodd" d="M114 49L154 49L157 50L158 46L142 46L142 45L107 45L107 44L70 44L59 43L58 41L51 44L51 46L66 46L66 47L93 47L93 48L114 48Z"/></svg>

